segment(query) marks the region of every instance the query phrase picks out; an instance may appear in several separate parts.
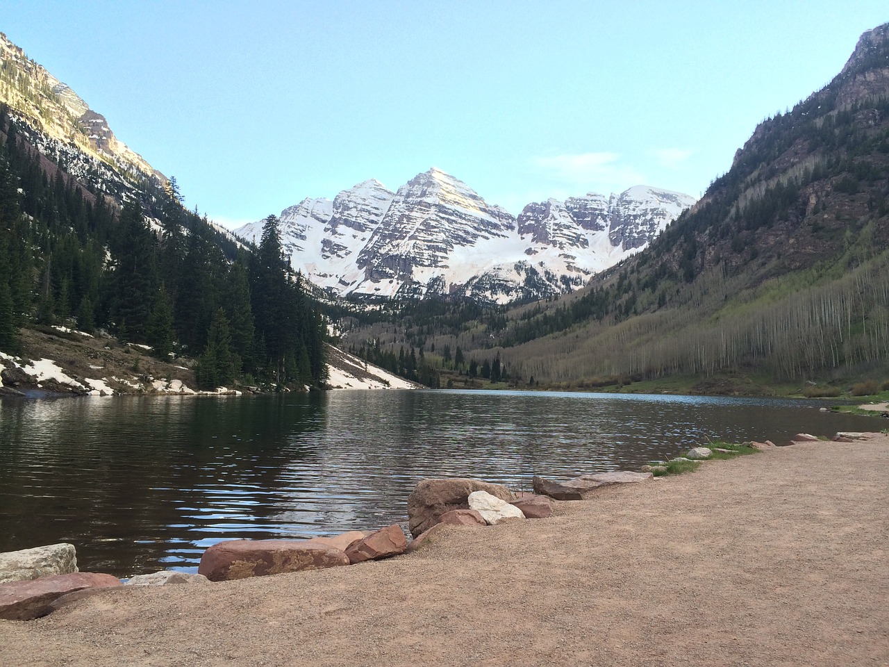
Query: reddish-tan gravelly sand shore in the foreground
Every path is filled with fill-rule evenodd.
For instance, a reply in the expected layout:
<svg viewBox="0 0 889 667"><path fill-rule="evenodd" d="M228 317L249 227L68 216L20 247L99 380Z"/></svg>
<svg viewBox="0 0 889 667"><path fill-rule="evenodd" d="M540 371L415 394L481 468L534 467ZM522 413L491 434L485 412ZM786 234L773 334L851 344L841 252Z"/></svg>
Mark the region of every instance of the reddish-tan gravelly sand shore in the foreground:
<svg viewBox="0 0 889 667"><path fill-rule="evenodd" d="M18 665L887 665L889 437L448 526L415 554L0 621Z"/></svg>

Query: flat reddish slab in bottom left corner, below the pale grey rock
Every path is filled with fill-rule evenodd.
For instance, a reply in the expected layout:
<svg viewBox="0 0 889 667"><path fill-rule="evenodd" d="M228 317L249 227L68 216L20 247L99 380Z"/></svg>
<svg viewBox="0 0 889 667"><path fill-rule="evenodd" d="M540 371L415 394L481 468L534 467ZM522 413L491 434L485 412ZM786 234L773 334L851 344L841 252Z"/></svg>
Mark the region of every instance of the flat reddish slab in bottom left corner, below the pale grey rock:
<svg viewBox="0 0 889 667"><path fill-rule="evenodd" d="M52 611L52 603L72 591L120 586L116 576L94 572L72 572L51 575L33 581L0 584L0 618L8 621L30 621Z"/></svg>

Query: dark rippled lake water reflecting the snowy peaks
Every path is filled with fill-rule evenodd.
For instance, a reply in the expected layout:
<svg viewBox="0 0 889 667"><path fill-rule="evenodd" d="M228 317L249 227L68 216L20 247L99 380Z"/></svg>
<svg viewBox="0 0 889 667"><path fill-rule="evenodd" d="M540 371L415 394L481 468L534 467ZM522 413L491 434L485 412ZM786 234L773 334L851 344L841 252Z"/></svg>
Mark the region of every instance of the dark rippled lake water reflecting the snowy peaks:
<svg viewBox="0 0 889 667"><path fill-rule="evenodd" d="M878 430L755 398L333 391L0 401L0 551L72 542L84 571L196 571L224 539L406 526L422 478L631 469L706 438Z"/></svg>

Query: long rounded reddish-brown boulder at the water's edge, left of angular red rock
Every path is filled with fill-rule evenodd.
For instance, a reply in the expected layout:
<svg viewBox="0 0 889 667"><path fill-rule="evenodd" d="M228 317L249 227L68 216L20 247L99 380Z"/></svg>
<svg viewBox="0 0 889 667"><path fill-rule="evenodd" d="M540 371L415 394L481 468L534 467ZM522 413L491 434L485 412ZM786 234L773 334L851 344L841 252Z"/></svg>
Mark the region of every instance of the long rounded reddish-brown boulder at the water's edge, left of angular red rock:
<svg viewBox="0 0 889 667"><path fill-rule="evenodd" d="M305 540L229 540L204 551L197 574L223 582L348 564L343 551Z"/></svg>

